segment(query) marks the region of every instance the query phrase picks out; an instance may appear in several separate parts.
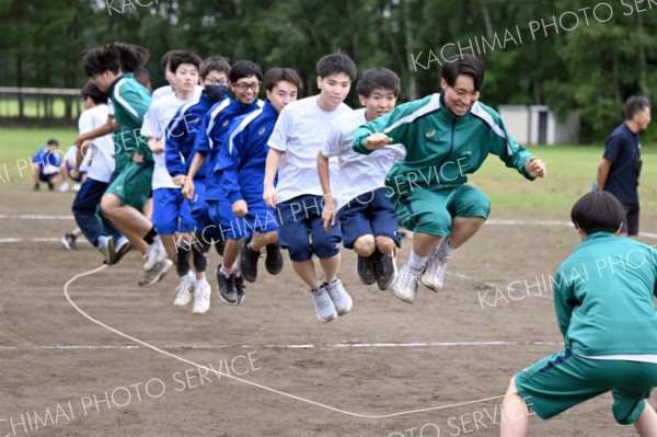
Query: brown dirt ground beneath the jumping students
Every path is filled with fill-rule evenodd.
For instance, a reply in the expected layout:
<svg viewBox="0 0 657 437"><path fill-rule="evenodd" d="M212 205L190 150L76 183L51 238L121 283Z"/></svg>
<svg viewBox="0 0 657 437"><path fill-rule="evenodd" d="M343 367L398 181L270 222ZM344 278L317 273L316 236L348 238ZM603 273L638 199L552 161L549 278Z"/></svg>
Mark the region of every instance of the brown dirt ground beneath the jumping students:
<svg viewBox="0 0 657 437"><path fill-rule="evenodd" d="M210 311L194 315L172 304L174 272L138 287L141 262L131 253L68 288L105 327L64 291L101 265L97 252L32 240L59 238L73 221L16 217L67 216L71 200L26 183L0 188L0 436L496 436L500 399L450 405L504 394L516 371L561 348L549 274L577 244L568 227L485 226L450 262L445 289L420 287L414 304L359 285L345 251L339 276L355 306L327 324L289 263L277 277L262 268L242 306L212 291ZM520 216L491 218L567 219ZM212 253L212 271L218 261ZM512 281L521 285L509 291ZM532 436L633 430L614 422L610 395L530 422Z"/></svg>

